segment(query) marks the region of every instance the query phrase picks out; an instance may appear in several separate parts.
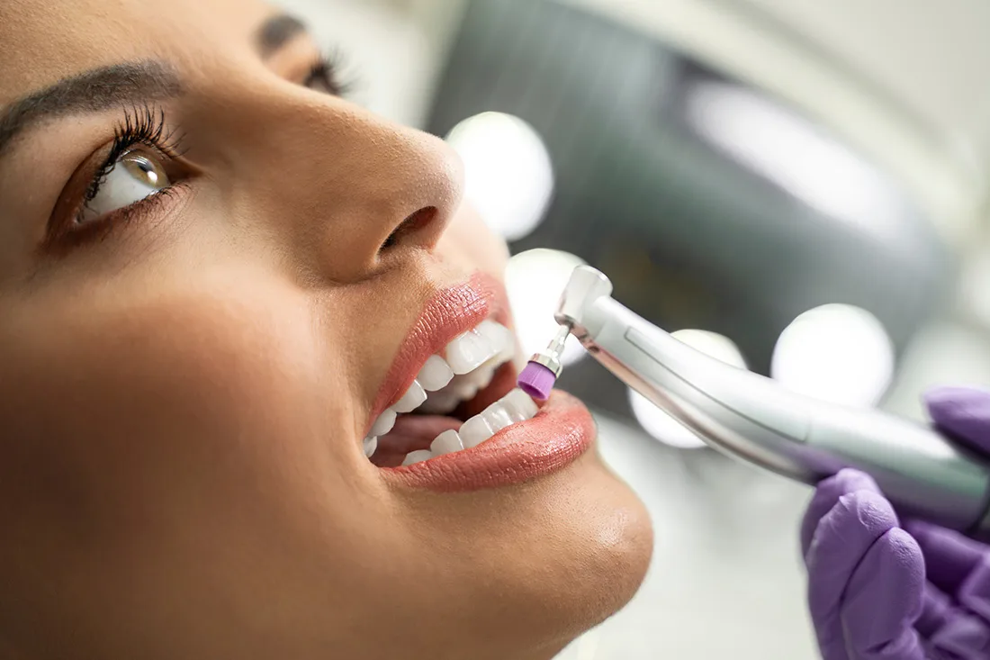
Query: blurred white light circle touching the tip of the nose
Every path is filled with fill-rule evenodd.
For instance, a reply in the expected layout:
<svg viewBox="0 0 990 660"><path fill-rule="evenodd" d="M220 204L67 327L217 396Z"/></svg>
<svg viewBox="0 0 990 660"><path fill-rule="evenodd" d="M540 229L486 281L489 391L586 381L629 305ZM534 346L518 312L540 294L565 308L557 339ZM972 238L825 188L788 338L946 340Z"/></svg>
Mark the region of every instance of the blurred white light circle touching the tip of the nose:
<svg viewBox="0 0 990 660"><path fill-rule="evenodd" d="M484 112L446 138L464 162L464 197L507 241L528 236L544 219L553 167L536 130L514 115Z"/></svg>

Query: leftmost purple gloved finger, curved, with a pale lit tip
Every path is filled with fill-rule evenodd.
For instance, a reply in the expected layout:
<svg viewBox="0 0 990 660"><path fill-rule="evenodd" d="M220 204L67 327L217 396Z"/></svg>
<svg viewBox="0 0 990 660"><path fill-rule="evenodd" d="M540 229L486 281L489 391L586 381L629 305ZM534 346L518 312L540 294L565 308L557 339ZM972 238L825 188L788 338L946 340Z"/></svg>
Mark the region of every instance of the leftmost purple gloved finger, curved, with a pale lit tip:
<svg viewBox="0 0 990 660"><path fill-rule="evenodd" d="M825 660L849 660L841 621L842 596L870 547L897 526L890 502L872 490L841 495L819 521L805 563L808 605Z"/></svg>

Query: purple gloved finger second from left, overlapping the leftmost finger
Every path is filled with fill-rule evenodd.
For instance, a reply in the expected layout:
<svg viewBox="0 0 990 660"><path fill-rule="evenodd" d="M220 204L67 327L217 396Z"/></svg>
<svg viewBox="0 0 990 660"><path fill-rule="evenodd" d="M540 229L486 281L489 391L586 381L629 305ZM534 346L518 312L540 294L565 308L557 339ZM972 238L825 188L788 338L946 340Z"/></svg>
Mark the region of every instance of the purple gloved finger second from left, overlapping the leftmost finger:
<svg viewBox="0 0 990 660"><path fill-rule="evenodd" d="M852 660L925 660L914 622L922 612L925 559L894 527L870 546L845 588L841 622Z"/></svg>

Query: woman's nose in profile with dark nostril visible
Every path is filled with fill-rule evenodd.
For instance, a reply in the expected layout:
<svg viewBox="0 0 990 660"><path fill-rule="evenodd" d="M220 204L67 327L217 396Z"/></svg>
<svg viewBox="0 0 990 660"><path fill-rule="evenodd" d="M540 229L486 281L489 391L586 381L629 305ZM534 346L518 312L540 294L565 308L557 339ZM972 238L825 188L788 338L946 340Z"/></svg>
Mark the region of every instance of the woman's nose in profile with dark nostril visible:
<svg viewBox="0 0 990 660"><path fill-rule="evenodd" d="M307 90L267 98L253 96L239 120L253 130L235 179L314 275L358 281L436 247L463 195L463 165L444 141Z"/></svg>

